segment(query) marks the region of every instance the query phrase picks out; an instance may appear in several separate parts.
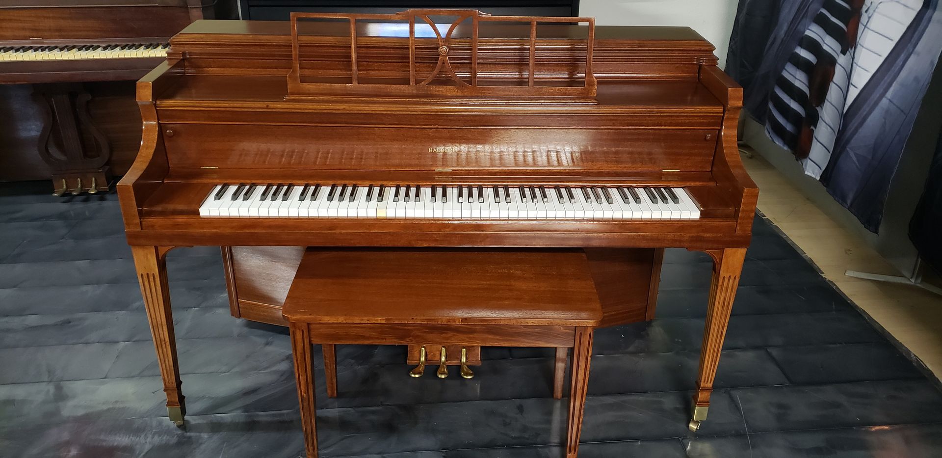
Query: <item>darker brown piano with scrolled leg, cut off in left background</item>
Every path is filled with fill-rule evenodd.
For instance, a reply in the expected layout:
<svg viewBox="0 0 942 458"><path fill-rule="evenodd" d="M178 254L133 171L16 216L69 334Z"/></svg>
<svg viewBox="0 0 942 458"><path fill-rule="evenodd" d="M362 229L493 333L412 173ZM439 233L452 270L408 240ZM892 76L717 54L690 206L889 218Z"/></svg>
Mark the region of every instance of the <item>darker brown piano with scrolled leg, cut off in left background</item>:
<svg viewBox="0 0 942 458"><path fill-rule="evenodd" d="M0 179L52 175L57 195L107 190L138 149L126 85L163 62L171 36L210 8L201 0L0 3L0 85L23 85L0 87L9 101L0 101L9 120L0 125ZM126 83L85 85L103 81Z"/></svg>

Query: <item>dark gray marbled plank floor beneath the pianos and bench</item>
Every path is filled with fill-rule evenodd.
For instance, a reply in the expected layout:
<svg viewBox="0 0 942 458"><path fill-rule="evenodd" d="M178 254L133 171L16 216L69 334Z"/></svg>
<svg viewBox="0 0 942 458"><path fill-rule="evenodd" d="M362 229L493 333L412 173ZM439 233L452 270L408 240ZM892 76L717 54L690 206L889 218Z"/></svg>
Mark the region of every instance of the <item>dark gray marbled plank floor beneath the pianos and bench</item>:
<svg viewBox="0 0 942 458"><path fill-rule="evenodd" d="M116 197L46 186L0 185L0 456L299 456L287 335L229 316L219 252L169 259L181 430L164 417ZM709 264L683 250L665 263L658 319L596 333L580 456L942 456L936 384L761 220L710 417L689 433ZM338 356L341 396L318 398L323 456L560 456L550 352L487 349L471 381L410 379L396 347Z"/></svg>

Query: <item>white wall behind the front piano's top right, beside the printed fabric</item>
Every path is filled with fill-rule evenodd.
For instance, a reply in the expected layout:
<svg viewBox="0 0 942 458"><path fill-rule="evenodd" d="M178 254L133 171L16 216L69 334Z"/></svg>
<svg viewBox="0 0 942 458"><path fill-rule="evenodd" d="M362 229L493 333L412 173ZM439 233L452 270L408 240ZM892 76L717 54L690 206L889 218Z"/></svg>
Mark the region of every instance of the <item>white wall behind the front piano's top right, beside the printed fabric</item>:
<svg viewBox="0 0 942 458"><path fill-rule="evenodd" d="M739 0L580 0L579 16L595 25L686 25L716 46L720 68Z"/></svg>

